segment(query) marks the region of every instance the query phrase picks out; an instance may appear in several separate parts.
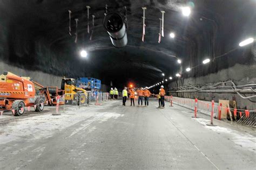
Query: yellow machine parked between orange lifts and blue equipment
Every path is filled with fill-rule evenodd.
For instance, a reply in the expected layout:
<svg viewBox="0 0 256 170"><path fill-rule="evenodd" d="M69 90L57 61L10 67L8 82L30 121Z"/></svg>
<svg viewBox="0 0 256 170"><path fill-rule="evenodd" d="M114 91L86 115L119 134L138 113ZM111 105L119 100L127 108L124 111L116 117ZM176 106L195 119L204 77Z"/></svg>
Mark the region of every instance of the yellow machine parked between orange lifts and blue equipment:
<svg viewBox="0 0 256 170"><path fill-rule="evenodd" d="M77 100L78 105L85 104L86 101L86 90L76 87L76 80L71 78L62 79L62 90L64 90L65 101ZM78 95L76 95L78 94ZM77 97L77 98L76 98Z"/></svg>

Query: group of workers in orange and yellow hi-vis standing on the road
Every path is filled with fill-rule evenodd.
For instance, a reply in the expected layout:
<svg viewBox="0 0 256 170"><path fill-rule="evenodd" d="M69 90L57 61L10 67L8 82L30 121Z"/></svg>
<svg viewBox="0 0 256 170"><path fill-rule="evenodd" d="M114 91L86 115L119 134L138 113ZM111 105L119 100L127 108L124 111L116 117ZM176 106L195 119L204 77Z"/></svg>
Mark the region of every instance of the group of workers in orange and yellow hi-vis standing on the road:
<svg viewBox="0 0 256 170"><path fill-rule="evenodd" d="M125 106L126 100L128 97L130 97L130 101L131 101L131 105L133 104L133 106L135 106L134 104L134 97L135 94L137 93L138 95L138 105L143 105L143 98L144 98L144 103L145 103L145 107L149 106L149 97L151 95L149 88L145 87L142 88L140 87L139 89L135 90L134 88L131 89L127 89L127 87L124 87L123 91L122 91L122 96L123 96L123 106ZM164 90L164 86L161 86L161 88L159 89L159 94L156 95L158 97L158 101L159 101L159 107L158 108L164 108L165 107L165 103L164 103L164 96L165 96L165 90ZM111 88L110 90L110 97L111 99L117 99L118 97L118 90L117 88Z"/></svg>

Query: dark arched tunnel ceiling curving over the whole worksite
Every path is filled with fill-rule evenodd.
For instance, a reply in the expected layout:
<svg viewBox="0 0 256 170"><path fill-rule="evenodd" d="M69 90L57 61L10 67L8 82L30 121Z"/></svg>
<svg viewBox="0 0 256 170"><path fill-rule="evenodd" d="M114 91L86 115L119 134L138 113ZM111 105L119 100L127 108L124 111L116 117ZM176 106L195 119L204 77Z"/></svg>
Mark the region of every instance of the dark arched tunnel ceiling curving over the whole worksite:
<svg viewBox="0 0 256 170"><path fill-rule="evenodd" d="M90 6L89 19L86 5ZM184 6L191 9L190 16L183 16ZM246 82L238 78L238 84L255 83L255 69L244 69L255 68L255 43L238 46L246 38L255 39L255 6L254 0L2 0L0 60L32 72L95 77L106 86L112 82L118 88L131 82L137 87L150 87L163 79L168 80L164 82L167 88L184 86L186 80L207 77L225 69L232 72L230 68L235 65L239 65L240 70L235 70L234 76L224 76L225 80L221 81L238 76L247 77ZM142 7L147 8L144 42ZM162 34L159 43L160 11L165 13L164 36ZM125 47L114 47L104 29L104 13L110 12L118 12L125 20L128 39ZM174 38L170 37L171 32ZM82 49L87 52L86 58L80 56ZM206 58L211 62L203 65ZM191 68L189 73L187 67ZM177 73L181 77L176 77ZM205 79L200 83L219 81L218 78Z"/></svg>

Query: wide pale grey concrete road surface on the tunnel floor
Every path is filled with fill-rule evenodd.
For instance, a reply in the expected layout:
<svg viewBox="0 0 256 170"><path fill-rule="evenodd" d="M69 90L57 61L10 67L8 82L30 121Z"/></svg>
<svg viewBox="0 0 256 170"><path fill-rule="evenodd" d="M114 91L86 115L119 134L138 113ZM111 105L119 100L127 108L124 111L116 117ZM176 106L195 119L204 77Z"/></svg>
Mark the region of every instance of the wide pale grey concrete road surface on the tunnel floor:
<svg viewBox="0 0 256 170"><path fill-rule="evenodd" d="M0 169L255 169L255 133L122 101L0 125ZM167 105L167 104L166 104Z"/></svg>

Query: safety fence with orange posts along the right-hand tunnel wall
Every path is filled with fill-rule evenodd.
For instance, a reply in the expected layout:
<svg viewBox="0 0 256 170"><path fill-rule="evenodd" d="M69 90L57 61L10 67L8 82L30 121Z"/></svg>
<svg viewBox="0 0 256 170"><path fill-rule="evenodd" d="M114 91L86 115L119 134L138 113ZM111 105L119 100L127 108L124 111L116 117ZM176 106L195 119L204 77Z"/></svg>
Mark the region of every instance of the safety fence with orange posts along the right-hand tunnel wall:
<svg viewBox="0 0 256 170"><path fill-rule="evenodd" d="M230 119L232 122L237 121L237 123L256 126L256 109L255 110L245 110L245 109L236 109L230 108L229 106L224 106L221 103L215 103L213 100L209 101L201 101L197 98L181 98L181 97L173 97L173 96L165 96L165 101L170 102L170 106L172 104L178 104L188 109L194 110L194 116L197 117L197 113L201 112L206 115L211 116L211 124L213 117L217 119ZM221 117L221 115L226 115L226 117Z"/></svg>

